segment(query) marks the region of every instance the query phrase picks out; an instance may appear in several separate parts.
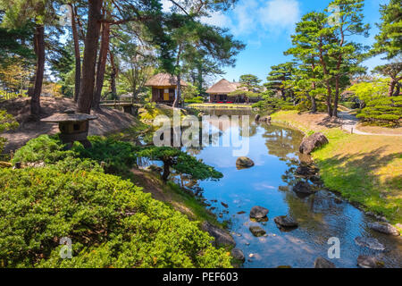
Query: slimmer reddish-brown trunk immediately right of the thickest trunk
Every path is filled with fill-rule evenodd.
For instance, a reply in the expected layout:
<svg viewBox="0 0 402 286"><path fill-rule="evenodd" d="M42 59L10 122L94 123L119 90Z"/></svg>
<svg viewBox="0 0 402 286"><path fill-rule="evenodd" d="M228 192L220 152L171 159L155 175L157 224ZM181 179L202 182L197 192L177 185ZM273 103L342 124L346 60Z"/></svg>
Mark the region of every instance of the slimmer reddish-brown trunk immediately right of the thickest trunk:
<svg viewBox="0 0 402 286"><path fill-rule="evenodd" d="M106 16L106 18L108 18L108 16ZM102 88L104 87L106 60L107 60L107 54L109 52L109 39L110 39L110 24L108 22L104 22L102 24L101 46L96 68L96 87L92 103L92 107L94 109L100 108L99 104L102 95Z"/></svg>

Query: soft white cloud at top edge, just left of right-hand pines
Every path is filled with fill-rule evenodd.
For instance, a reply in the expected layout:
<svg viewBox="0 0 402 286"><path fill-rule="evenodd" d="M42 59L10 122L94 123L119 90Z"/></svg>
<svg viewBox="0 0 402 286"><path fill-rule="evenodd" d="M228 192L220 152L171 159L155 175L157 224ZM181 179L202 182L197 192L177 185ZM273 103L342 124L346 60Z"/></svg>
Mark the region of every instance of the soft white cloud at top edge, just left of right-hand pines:
<svg viewBox="0 0 402 286"><path fill-rule="evenodd" d="M289 32L300 18L300 7L297 0L272 0L259 9L258 15L265 29Z"/></svg>

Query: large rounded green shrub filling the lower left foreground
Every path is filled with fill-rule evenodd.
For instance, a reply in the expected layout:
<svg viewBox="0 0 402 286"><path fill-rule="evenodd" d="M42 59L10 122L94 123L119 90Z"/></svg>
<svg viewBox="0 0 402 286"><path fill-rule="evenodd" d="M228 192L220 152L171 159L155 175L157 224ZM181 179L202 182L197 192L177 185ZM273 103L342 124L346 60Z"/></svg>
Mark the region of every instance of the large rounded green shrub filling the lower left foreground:
<svg viewBox="0 0 402 286"><path fill-rule="evenodd" d="M7 169L0 189L4 267L230 267L196 222L119 177ZM60 257L63 237L71 259Z"/></svg>

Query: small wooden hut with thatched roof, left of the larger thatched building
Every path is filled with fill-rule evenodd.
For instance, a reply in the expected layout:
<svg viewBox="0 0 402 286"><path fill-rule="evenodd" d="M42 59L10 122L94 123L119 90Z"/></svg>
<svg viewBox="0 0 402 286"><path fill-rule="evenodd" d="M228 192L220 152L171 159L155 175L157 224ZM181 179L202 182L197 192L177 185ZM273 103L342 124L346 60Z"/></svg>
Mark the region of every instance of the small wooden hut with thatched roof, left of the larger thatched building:
<svg viewBox="0 0 402 286"><path fill-rule="evenodd" d="M155 74L147 80L146 87L152 88L152 102L172 104L177 94L177 77L169 73ZM184 80L180 80L181 88L188 86Z"/></svg>

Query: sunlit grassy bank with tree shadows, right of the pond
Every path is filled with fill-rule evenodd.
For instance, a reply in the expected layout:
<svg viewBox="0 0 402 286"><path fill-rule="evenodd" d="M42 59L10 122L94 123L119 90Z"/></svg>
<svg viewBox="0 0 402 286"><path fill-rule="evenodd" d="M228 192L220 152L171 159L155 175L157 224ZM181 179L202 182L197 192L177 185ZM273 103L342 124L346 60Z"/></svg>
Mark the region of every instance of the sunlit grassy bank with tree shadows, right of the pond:
<svg viewBox="0 0 402 286"><path fill-rule="evenodd" d="M391 223L402 221L402 137L348 134L325 122L324 114L278 112L272 120L306 134L322 131L330 144L312 156L325 186Z"/></svg>

